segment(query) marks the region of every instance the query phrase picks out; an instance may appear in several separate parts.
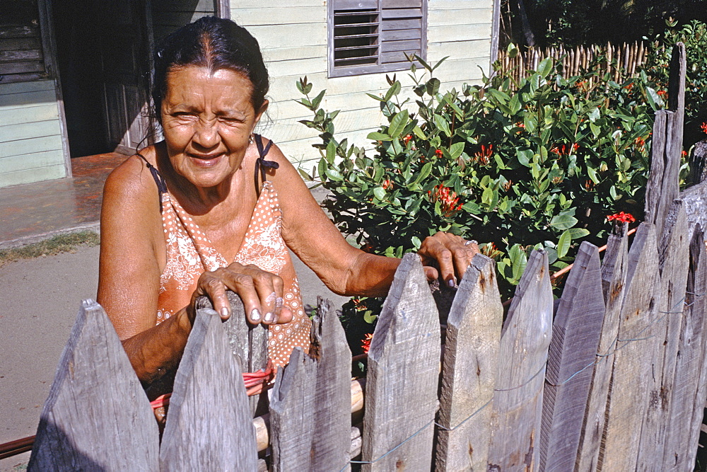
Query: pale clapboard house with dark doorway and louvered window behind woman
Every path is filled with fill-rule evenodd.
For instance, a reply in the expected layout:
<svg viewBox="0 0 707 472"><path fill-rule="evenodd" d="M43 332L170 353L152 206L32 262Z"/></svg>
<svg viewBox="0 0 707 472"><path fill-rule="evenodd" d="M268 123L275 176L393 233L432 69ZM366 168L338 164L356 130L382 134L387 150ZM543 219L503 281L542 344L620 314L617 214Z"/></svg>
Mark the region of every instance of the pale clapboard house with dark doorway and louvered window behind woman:
<svg viewBox="0 0 707 472"><path fill-rule="evenodd" d="M205 15L230 16L259 40L269 72L262 133L293 162L318 159L298 123L296 81L327 89L337 133L359 144L385 120L366 96L405 84L405 52L436 62L442 88L489 73L499 0L14 0L0 8L0 187L71 176L71 157L132 154L148 134L149 51Z"/></svg>

